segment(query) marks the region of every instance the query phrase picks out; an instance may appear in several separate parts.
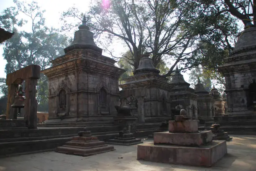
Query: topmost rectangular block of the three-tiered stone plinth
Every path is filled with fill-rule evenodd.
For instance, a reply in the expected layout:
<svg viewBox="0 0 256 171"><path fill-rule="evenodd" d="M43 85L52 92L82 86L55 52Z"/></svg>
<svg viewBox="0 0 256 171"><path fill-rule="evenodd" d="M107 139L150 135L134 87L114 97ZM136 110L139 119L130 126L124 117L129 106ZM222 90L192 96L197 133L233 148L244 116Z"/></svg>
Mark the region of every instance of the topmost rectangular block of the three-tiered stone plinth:
<svg viewBox="0 0 256 171"><path fill-rule="evenodd" d="M197 120L169 121L169 132L190 133L197 131Z"/></svg>

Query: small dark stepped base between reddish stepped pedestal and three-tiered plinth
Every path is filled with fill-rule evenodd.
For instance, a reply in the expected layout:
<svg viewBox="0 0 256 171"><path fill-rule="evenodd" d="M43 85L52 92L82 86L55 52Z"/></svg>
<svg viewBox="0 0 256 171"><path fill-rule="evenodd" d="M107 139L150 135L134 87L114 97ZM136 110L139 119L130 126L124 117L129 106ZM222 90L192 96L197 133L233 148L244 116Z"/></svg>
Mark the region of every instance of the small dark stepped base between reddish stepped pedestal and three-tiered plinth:
<svg viewBox="0 0 256 171"><path fill-rule="evenodd" d="M129 130L124 129L119 132L119 136L116 139L109 139L108 144L125 145L130 146L134 144L143 143L141 139L136 139Z"/></svg>

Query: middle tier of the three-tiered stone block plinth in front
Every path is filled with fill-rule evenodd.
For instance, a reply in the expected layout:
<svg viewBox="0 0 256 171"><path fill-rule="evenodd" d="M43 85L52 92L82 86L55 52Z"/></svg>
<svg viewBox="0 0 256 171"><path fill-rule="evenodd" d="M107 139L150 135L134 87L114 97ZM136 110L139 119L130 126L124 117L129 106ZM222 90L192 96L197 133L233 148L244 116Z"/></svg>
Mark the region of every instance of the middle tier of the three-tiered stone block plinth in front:
<svg viewBox="0 0 256 171"><path fill-rule="evenodd" d="M181 146L200 146L212 141L212 131L200 131L198 133L171 133L155 132L154 144L169 144Z"/></svg>

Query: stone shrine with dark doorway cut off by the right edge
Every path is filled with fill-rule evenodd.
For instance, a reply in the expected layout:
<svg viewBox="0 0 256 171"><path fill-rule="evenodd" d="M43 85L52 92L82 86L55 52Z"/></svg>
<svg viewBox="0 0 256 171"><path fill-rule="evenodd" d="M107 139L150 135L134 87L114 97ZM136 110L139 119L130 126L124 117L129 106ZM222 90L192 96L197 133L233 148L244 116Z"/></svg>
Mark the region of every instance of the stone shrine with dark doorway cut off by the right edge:
<svg viewBox="0 0 256 171"><path fill-rule="evenodd" d="M219 67L225 76L228 115L253 115L256 104L256 27L238 35L235 48Z"/></svg>

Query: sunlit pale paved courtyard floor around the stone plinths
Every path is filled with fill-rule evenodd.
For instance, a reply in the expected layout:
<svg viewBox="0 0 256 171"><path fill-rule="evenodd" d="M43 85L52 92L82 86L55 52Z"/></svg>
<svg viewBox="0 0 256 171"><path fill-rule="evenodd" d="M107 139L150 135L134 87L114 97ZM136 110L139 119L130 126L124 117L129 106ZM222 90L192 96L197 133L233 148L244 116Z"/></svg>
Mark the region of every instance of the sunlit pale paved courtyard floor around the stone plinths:
<svg viewBox="0 0 256 171"><path fill-rule="evenodd" d="M0 171L256 171L256 136L231 137L228 154L211 168L138 161L136 145L116 145L115 151L88 157L51 151L2 158Z"/></svg>

